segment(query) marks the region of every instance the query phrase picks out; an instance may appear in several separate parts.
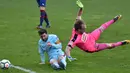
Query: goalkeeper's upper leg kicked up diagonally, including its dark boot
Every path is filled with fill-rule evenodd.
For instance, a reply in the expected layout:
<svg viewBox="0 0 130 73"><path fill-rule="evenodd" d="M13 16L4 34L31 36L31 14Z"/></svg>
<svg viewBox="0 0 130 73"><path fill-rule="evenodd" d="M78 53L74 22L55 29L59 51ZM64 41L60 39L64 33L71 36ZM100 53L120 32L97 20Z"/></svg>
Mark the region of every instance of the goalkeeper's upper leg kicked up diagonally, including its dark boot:
<svg viewBox="0 0 130 73"><path fill-rule="evenodd" d="M111 24L113 24L114 22L116 22L118 19L121 18L121 15L116 16L115 18L113 18L112 20L102 24L99 28L95 29L91 35L95 38L95 40L98 40L100 37L100 34L106 30Z"/></svg>

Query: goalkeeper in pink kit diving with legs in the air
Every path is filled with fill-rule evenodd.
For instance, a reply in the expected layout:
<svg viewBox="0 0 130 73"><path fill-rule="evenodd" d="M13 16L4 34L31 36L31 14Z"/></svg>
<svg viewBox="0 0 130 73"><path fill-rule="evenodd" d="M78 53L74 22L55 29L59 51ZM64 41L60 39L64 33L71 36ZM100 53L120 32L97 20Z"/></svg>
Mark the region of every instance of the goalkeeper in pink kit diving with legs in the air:
<svg viewBox="0 0 130 73"><path fill-rule="evenodd" d="M81 19L83 4L80 1L77 1L77 4L80 7L80 10L78 12L74 28L72 30L71 39L65 50L66 56L69 61L76 60L76 58L72 58L70 55L70 51L72 48L74 48L74 46L79 47L85 52L94 53L130 43L130 40L119 41L116 43L96 43L101 33L106 30L110 25L118 21L121 18L121 15L118 15L112 20L102 24L99 28L95 29L91 33L86 33L86 24Z"/></svg>

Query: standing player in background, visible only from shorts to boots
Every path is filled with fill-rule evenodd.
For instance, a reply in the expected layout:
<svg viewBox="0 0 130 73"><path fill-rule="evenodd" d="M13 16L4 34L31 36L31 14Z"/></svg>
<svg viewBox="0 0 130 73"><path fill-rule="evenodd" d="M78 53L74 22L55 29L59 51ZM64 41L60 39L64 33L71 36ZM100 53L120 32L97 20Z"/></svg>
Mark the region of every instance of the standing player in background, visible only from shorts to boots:
<svg viewBox="0 0 130 73"><path fill-rule="evenodd" d="M38 6L40 8L40 24L37 26L37 29L42 28L43 21L46 22L46 28L50 28L49 19L46 13L46 0L37 0Z"/></svg>

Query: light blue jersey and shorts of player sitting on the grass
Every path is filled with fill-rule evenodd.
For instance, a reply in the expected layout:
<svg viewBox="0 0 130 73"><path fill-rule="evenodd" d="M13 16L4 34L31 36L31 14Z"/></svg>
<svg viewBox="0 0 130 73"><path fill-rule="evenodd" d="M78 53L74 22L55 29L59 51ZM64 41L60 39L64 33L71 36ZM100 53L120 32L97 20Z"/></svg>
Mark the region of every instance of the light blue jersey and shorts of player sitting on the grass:
<svg viewBox="0 0 130 73"><path fill-rule="evenodd" d="M47 46L48 42L52 44L51 47ZM45 62L45 56L44 56L45 52L47 52L49 60L50 59L58 60L59 56L64 55L64 52L62 51L62 44L57 42L59 42L59 38L54 34L48 34L48 39L46 42L44 42L42 39L39 40L38 49L41 55L42 62Z"/></svg>

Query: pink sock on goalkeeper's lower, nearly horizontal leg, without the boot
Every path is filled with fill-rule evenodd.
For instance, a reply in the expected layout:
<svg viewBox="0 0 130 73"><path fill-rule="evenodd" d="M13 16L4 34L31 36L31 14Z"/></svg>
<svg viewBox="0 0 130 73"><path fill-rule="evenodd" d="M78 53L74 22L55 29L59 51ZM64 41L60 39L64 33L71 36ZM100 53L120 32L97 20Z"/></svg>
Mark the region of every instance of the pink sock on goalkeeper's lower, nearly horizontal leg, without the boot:
<svg viewBox="0 0 130 73"><path fill-rule="evenodd" d="M97 51L101 51L101 50L104 50L104 49L114 48L114 47L121 46L121 45L122 45L122 42L117 42L117 43L112 43L112 44L97 43L96 44L96 48L97 48Z"/></svg>

